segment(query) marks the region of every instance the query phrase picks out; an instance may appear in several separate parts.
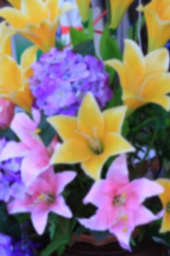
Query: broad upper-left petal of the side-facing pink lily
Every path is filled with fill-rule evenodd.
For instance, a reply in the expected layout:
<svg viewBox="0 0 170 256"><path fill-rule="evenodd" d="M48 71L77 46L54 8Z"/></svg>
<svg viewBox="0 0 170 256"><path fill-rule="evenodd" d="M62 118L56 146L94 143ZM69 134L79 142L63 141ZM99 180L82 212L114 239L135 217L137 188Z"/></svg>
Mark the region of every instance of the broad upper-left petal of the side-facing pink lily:
<svg viewBox="0 0 170 256"><path fill-rule="evenodd" d="M37 124L26 113L17 113L11 122L11 129L29 148L38 144L31 134L36 127Z"/></svg>

